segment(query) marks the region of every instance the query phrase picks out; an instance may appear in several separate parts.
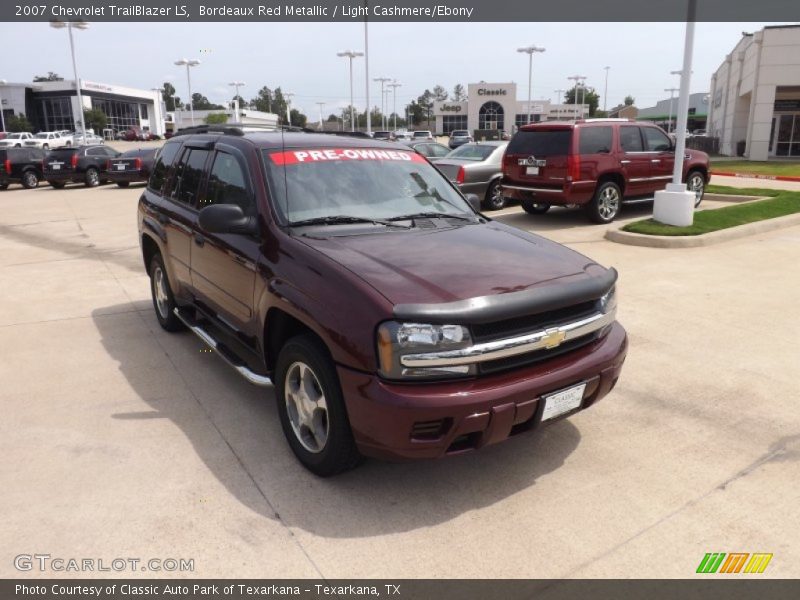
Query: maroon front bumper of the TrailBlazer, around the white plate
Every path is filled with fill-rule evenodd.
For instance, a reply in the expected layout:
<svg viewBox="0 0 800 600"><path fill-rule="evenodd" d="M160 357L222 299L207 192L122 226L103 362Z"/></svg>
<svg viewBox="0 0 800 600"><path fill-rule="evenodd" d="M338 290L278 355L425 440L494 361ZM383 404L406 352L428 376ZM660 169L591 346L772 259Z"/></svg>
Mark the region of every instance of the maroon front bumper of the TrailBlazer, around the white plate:
<svg viewBox="0 0 800 600"><path fill-rule="evenodd" d="M616 384L627 346L625 330L614 323L607 335L574 352L474 379L402 384L343 366L337 370L362 454L437 458L536 427L542 396L582 382L586 390L579 410L588 408Z"/></svg>

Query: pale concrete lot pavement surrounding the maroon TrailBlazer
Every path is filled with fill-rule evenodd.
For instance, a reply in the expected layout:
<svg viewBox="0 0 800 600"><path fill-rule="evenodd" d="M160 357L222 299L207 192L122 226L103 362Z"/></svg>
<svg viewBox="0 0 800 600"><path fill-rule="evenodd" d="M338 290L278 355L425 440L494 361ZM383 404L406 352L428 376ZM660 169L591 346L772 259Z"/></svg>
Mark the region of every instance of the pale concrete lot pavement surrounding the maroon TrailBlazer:
<svg viewBox="0 0 800 600"><path fill-rule="evenodd" d="M764 576L800 576L800 227L661 250L576 211L493 213L619 270L620 383L477 453L322 480L271 392L159 328L140 190L0 192L0 575L47 553L204 578L691 577L706 552L771 552Z"/></svg>

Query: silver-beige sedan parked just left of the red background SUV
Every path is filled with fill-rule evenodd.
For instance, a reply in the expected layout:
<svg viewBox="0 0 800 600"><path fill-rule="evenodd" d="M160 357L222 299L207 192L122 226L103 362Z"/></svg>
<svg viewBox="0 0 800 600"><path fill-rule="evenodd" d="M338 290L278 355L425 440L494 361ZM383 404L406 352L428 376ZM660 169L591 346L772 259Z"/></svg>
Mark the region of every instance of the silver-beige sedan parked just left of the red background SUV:
<svg viewBox="0 0 800 600"><path fill-rule="evenodd" d="M465 194L476 194L483 206L499 210L506 205L500 189L503 152L508 142L463 144L436 161L436 168Z"/></svg>

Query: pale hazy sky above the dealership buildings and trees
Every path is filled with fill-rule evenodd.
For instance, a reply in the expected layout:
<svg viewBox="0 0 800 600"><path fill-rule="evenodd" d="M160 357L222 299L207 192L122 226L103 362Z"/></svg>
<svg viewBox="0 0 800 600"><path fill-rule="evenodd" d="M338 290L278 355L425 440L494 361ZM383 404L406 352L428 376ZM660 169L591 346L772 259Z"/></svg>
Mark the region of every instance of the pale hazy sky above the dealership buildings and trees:
<svg viewBox="0 0 800 600"><path fill-rule="evenodd" d="M691 91L708 91L712 73L742 32L768 24L698 23ZM535 44L546 51L534 55L534 99L555 101L556 90L571 87L568 76L584 75L586 85L601 95L602 108L609 66L608 107L630 94L645 108L668 98L665 88L678 87L679 77L670 71L682 66L684 31L683 23L370 23L369 76L401 83L399 113L437 84L452 94L457 83L515 81L519 100L525 100L528 57L516 49ZM7 50L16 49L16 59L0 67L0 78L28 82L55 71L72 79L65 30L46 23L0 23L0 39ZM142 89L169 81L185 99L185 67L173 63L197 58L202 64L192 69L192 91L212 102L232 98L227 84L234 80L246 82L241 88L246 99L264 85L280 86L294 92L293 108L315 120L317 102L325 103L326 115L349 104L348 60L336 53L363 51L364 24L92 23L75 32L75 43L82 79ZM355 104L363 109L363 58L354 61L353 79ZM379 90L380 84L371 82L372 106L380 105Z"/></svg>

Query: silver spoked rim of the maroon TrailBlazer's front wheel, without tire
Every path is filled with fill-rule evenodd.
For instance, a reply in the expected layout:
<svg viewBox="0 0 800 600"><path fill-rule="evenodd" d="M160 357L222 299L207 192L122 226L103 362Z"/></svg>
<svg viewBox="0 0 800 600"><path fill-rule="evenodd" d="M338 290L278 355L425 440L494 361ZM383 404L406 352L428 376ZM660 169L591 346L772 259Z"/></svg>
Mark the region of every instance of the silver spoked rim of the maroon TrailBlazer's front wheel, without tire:
<svg viewBox="0 0 800 600"><path fill-rule="evenodd" d="M307 364L294 362L286 371L283 387L294 435L309 452L322 452L328 441L328 404L316 374Z"/></svg>

